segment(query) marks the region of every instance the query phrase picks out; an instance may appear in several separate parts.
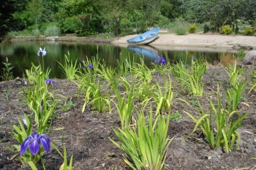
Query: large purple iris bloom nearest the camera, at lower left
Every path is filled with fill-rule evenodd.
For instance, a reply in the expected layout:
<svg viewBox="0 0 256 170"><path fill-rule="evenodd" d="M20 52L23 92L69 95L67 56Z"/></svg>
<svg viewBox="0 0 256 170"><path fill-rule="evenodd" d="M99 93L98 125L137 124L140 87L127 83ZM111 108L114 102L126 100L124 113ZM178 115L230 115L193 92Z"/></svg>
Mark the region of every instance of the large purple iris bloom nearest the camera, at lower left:
<svg viewBox="0 0 256 170"><path fill-rule="evenodd" d="M20 145L20 155L23 155L29 147L29 151L33 155L37 155L40 150L40 144L46 152L50 151L50 139L46 134L37 134L34 132L33 135L28 136L23 143Z"/></svg>

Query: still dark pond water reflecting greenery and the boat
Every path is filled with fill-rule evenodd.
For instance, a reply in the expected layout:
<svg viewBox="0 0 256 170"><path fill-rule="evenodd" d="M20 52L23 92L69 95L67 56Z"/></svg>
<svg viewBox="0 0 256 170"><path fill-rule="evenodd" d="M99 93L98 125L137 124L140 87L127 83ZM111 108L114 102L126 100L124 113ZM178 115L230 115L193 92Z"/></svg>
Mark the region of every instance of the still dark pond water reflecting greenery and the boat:
<svg viewBox="0 0 256 170"><path fill-rule="evenodd" d="M46 67L51 69L50 77L64 79L60 63L64 63L64 55L68 55L72 61L86 60L86 58L98 57L105 61L107 66L116 67L116 63L120 58L128 58L134 56L135 62L140 62L140 55L144 55L144 61L148 67L152 67L158 55L163 55L164 58L169 58L173 63L183 61L190 63L192 55L194 58L206 58L209 63L219 61L221 53L211 53L203 51L176 51L176 50L157 50L148 45L138 47L118 47L111 44L88 44L80 42L1 42L0 43L0 68L4 68L2 62L8 58L9 63L15 66L12 69L14 77L22 77L26 69L31 68L31 62L37 65L42 61L42 56L37 56L39 47L47 51L44 56Z"/></svg>

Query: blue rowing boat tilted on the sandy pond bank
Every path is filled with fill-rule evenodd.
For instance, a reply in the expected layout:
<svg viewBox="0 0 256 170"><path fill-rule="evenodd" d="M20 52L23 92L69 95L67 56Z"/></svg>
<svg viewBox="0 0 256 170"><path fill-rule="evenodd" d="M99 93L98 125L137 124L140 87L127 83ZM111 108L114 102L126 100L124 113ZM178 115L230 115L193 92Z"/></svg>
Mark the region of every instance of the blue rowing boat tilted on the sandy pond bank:
<svg viewBox="0 0 256 170"><path fill-rule="evenodd" d="M159 27L146 31L143 34L133 37L132 39L127 39L130 45L146 45L149 42L154 41L159 33Z"/></svg>

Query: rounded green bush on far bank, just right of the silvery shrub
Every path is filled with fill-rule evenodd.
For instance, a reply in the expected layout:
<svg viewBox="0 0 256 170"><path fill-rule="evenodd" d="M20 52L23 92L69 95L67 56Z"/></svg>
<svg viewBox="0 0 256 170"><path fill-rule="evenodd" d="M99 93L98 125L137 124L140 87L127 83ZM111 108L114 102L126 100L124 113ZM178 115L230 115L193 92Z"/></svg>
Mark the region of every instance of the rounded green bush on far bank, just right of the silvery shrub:
<svg viewBox="0 0 256 170"><path fill-rule="evenodd" d="M76 16L66 18L63 23L64 33L75 33L83 27L82 21Z"/></svg>

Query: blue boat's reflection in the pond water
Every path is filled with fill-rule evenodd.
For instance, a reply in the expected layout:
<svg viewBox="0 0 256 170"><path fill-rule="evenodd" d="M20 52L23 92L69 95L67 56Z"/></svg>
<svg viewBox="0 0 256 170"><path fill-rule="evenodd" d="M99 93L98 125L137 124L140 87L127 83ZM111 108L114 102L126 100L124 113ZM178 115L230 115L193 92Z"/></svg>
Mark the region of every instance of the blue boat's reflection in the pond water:
<svg viewBox="0 0 256 170"><path fill-rule="evenodd" d="M145 55L151 59L158 58L157 50L149 45L128 46L127 49L132 50L134 53L138 53L139 55Z"/></svg>

